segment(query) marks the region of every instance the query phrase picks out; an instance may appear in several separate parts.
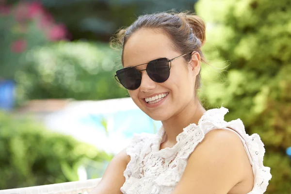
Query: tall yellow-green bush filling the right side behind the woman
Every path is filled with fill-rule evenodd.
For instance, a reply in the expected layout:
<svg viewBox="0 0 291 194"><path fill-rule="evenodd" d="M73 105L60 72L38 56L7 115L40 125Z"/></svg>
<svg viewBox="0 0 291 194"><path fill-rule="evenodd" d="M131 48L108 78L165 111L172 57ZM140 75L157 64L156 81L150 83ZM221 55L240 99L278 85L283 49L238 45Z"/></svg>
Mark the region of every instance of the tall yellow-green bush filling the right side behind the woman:
<svg viewBox="0 0 291 194"><path fill-rule="evenodd" d="M229 65L223 73L203 67L201 97L208 108L223 104L227 120L241 118L249 134L260 135L273 175L266 194L290 194L290 0L200 0L196 10L207 22L210 64Z"/></svg>

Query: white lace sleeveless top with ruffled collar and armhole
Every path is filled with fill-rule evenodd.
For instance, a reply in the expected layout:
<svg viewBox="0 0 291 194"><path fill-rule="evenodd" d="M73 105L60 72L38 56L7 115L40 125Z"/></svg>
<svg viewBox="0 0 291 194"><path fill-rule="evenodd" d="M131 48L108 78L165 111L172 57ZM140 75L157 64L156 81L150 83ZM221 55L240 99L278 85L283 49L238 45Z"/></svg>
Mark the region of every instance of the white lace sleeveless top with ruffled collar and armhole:
<svg viewBox="0 0 291 194"><path fill-rule="evenodd" d="M190 124L178 134L177 144L160 150L164 129L157 134L134 134L127 154L130 162L124 171L123 194L170 194L180 180L189 155L211 129L236 132L244 144L255 176L254 187L248 194L263 194L272 178L270 167L263 165L264 144L258 134L246 134L241 119L226 122L228 109L210 109L200 118L198 125ZM231 128L231 129L229 129Z"/></svg>

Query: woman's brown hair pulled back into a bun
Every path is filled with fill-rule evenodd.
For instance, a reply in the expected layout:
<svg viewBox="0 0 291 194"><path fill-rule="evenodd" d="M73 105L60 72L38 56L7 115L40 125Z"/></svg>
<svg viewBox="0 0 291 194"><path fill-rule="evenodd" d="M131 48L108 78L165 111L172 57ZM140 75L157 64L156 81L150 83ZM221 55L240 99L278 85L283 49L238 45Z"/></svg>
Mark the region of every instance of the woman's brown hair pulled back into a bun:
<svg viewBox="0 0 291 194"><path fill-rule="evenodd" d="M196 15L186 12L162 12L157 14L139 16L128 28L121 29L117 32L116 38L111 39L111 46L122 49L121 62L123 64L123 49L129 37L140 29L154 29L164 32L173 42L174 49L180 53L191 53L197 51L204 63L206 59L201 51L205 43L205 23ZM117 45L116 45L117 44ZM190 61L191 55L185 55L184 60ZM201 86L200 71L196 77L196 89Z"/></svg>

